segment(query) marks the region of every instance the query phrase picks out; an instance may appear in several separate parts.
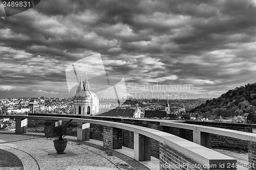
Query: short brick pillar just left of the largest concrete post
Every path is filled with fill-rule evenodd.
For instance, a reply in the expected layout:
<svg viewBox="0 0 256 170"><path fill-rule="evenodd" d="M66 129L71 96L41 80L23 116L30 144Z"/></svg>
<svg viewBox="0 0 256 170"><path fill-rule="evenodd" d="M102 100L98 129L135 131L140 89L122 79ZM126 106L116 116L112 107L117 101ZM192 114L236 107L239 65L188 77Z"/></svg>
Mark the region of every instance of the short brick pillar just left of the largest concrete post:
<svg viewBox="0 0 256 170"><path fill-rule="evenodd" d="M122 149L122 129L103 127L103 147L110 149Z"/></svg>

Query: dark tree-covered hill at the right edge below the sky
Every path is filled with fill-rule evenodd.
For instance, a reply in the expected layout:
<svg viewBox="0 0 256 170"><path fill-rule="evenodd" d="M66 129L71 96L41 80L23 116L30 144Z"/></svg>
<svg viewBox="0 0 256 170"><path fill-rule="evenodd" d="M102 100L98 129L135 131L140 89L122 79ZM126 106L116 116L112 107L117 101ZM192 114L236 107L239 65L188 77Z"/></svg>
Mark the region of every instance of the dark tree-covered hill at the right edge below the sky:
<svg viewBox="0 0 256 170"><path fill-rule="evenodd" d="M190 112L197 113L205 118L210 116L247 116L246 113L254 113L255 111L256 83L228 90L219 98L207 100L190 110Z"/></svg>

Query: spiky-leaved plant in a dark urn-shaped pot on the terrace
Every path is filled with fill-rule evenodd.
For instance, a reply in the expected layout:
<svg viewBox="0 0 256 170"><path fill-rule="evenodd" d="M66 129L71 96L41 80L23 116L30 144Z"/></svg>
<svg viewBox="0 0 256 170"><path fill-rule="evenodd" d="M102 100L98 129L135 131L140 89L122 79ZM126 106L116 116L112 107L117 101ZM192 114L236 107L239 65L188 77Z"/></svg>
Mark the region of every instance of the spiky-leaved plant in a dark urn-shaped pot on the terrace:
<svg viewBox="0 0 256 170"><path fill-rule="evenodd" d="M71 121L72 119L70 119L66 124L61 124L60 121L57 122L57 125L53 125L52 134L47 137L57 137L57 139L53 140L54 148L57 151L57 154L65 154L64 151L67 147L68 140L63 138L67 134Z"/></svg>

